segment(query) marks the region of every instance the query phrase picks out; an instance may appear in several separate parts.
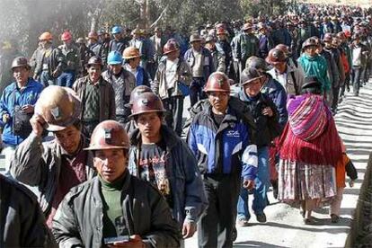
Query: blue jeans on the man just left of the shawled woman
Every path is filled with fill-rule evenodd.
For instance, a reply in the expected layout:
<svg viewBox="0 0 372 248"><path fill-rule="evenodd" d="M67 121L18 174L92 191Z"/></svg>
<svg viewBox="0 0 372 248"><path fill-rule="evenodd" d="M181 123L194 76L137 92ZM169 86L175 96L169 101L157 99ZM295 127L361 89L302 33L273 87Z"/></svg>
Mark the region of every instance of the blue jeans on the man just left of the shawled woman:
<svg viewBox="0 0 372 248"><path fill-rule="evenodd" d="M270 185L269 175L269 146L258 148L258 173L254 180L255 187L253 191L252 209L255 215L263 213L266 208L268 197L267 192ZM248 208L248 190L243 187L240 190L240 196L237 204L238 219L245 217L247 220L251 217Z"/></svg>

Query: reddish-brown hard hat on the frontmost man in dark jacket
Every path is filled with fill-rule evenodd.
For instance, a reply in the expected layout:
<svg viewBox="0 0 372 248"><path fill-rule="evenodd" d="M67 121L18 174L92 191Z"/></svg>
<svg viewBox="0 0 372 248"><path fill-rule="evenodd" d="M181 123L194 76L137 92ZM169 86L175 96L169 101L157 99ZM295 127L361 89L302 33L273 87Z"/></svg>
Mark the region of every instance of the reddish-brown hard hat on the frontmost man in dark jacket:
<svg viewBox="0 0 372 248"><path fill-rule="evenodd" d="M91 143L84 150L128 149L129 137L116 120L104 120L94 128Z"/></svg>

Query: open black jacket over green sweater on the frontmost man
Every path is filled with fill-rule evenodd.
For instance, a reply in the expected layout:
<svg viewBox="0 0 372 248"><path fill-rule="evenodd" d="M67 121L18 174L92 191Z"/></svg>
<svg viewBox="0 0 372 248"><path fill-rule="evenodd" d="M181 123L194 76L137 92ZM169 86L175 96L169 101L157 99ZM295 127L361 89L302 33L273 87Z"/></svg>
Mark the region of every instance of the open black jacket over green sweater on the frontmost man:
<svg viewBox="0 0 372 248"><path fill-rule="evenodd" d="M128 173L121 199L128 235L140 235L150 247L179 247L181 235L160 193ZM59 247L102 247L103 203L98 177L70 190L53 219Z"/></svg>

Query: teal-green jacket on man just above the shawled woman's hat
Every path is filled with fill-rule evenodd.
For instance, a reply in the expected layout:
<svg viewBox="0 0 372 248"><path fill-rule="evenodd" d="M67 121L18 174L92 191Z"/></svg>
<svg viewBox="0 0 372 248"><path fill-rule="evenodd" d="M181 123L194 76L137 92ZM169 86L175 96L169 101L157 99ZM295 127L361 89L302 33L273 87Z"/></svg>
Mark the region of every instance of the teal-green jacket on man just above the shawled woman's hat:
<svg viewBox="0 0 372 248"><path fill-rule="evenodd" d="M305 77L316 76L319 82L323 85L323 92L329 92L331 89L331 82L327 75L327 61L320 55L310 57L303 53L298 58L298 63L302 66L305 72Z"/></svg>

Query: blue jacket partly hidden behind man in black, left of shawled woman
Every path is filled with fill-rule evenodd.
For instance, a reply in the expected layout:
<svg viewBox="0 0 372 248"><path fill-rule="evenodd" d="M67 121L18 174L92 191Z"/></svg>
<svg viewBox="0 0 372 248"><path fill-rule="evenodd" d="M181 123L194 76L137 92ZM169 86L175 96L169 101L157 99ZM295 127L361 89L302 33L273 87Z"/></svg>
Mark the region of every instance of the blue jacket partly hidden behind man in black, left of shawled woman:
<svg viewBox="0 0 372 248"><path fill-rule="evenodd" d="M274 102L279 113L279 125L283 129L288 121L287 111L287 93L283 85L277 80L272 78L271 75L266 74L269 77L268 82L262 86L261 93L268 95L272 102Z"/></svg>

